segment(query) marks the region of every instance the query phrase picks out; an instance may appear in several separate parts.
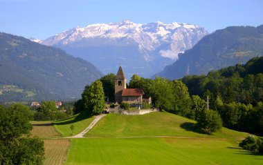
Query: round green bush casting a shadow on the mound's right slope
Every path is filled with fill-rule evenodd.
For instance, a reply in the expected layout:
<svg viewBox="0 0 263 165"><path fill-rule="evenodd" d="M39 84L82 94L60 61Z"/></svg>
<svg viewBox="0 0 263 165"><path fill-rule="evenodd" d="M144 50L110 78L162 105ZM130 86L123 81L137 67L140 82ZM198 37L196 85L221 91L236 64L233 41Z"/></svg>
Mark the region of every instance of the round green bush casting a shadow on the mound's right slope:
<svg viewBox="0 0 263 165"><path fill-rule="evenodd" d="M197 127L206 133L215 133L222 127L221 117L215 110L203 110L197 120Z"/></svg>

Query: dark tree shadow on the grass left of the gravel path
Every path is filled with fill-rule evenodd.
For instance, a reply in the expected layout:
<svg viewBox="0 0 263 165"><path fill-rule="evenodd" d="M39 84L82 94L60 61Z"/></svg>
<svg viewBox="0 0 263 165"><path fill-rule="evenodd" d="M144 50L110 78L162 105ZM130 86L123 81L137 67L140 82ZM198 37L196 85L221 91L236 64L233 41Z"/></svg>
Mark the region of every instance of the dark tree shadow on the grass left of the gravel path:
<svg viewBox="0 0 263 165"><path fill-rule="evenodd" d="M69 117L66 119L60 119L53 122L54 125L65 125L65 124L73 124L75 122L80 122L84 119L91 118L92 115L86 111L82 111L78 116ZM74 118L74 119L73 119ZM70 120L72 119L72 120Z"/></svg>

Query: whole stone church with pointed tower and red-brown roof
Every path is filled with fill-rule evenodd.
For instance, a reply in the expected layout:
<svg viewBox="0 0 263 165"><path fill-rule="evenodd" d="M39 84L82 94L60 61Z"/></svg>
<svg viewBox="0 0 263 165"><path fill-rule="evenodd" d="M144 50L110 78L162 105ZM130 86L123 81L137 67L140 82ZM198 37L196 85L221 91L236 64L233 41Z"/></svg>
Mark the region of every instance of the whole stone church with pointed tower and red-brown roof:
<svg viewBox="0 0 263 165"><path fill-rule="evenodd" d="M143 103L152 104L151 97L143 97L143 89L139 88L126 88L126 77L123 73L123 68L119 68L115 77L115 101L120 104L121 102L141 105Z"/></svg>

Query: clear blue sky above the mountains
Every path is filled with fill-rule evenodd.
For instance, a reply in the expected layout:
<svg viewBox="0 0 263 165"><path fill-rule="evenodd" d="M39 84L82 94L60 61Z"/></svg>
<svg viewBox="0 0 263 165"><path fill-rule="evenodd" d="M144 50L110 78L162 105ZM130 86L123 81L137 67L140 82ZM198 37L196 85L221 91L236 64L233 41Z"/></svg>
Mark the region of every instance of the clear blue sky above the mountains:
<svg viewBox="0 0 263 165"><path fill-rule="evenodd" d="M263 0L0 0L0 32L46 39L76 26L191 23L213 32L263 24Z"/></svg>

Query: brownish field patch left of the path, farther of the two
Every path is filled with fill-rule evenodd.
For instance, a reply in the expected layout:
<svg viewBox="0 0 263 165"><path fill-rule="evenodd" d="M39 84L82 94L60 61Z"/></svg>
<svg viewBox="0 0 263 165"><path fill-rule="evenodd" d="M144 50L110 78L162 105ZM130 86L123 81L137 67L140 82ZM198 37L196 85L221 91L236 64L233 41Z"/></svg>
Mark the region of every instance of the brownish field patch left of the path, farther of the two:
<svg viewBox="0 0 263 165"><path fill-rule="evenodd" d="M60 133L57 133L55 128L53 127L53 123L49 121L32 121L33 130L31 130L31 137L39 137L39 138L52 138L52 137L60 137Z"/></svg>

